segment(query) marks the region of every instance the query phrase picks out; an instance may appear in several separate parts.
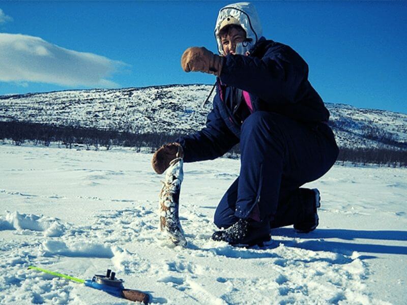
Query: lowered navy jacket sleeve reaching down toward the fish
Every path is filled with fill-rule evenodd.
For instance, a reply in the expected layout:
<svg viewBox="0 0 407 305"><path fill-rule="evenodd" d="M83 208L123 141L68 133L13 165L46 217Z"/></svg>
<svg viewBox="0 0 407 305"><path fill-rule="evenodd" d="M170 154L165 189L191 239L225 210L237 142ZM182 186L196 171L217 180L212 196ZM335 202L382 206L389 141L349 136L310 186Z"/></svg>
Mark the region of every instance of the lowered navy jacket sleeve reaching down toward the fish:
<svg viewBox="0 0 407 305"><path fill-rule="evenodd" d="M227 128L219 114L215 103L217 98L215 96L213 108L207 116L206 127L176 140L184 149L184 162L216 159L239 143L239 138Z"/></svg>

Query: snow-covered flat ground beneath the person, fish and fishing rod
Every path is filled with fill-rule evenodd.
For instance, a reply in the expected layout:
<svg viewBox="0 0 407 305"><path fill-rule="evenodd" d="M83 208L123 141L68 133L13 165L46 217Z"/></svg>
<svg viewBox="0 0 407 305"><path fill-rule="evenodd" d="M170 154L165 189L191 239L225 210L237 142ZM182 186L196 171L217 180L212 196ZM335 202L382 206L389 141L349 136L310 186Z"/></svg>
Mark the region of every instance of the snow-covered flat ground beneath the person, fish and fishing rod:
<svg viewBox="0 0 407 305"><path fill-rule="evenodd" d="M334 166L309 234L272 231L263 249L210 240L218 200L239 161L184 165L186 249L158 231L150 154L0 146L0 302L126 304L81 284L107 268L167 304L405 304L407 169Z"/></svg>

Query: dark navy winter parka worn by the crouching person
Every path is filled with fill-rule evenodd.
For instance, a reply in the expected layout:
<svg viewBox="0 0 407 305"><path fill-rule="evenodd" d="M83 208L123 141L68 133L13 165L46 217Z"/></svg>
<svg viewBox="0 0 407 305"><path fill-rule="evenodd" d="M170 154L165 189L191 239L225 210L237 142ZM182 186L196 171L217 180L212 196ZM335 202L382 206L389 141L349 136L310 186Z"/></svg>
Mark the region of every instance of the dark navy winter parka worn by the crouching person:
<svg viewBox="0 0 407 305"><path fill-rule="evenodd" d="M230 109L237 104L236 88L249 93L252 112L279 113L304 128L329 119L308 81L304 59L289 46L262 37L249 55L225 56L206 127L176 140L184 148L184 162L216 159L239 143L242 116Z"/></svg>

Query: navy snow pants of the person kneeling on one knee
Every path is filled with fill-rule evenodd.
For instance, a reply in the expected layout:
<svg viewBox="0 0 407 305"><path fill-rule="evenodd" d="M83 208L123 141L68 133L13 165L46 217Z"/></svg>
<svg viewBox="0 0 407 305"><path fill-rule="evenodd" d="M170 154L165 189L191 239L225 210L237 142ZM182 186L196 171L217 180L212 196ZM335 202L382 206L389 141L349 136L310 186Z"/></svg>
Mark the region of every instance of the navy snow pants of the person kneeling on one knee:
<svg viewBox="0 0 407 305"><path fill-rule="evenodd" d="M300 186L324 175L339 151L328 125L306 125L266 111L243 122L240 150L240 175L215 212L219 228L248 218L253 208L272 228L301 220L306 203Z"/></svg>

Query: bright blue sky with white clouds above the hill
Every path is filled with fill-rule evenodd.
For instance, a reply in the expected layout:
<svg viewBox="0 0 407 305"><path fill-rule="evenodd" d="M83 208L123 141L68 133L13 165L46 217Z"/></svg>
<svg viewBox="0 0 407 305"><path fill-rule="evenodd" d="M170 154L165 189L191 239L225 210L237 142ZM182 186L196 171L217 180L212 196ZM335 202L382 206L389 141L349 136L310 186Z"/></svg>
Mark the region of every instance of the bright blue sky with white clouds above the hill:
<svg viewBox="0 0 407 305"><path fill-rule="evenodd" d="M180 58L190 46L216 52L217 13L229 3L0 2L0 95L212 84L183 72ZM407 113L407 2L253 3L264 36L306 60L325 102Z"/></svg>

